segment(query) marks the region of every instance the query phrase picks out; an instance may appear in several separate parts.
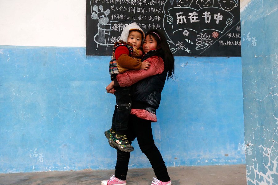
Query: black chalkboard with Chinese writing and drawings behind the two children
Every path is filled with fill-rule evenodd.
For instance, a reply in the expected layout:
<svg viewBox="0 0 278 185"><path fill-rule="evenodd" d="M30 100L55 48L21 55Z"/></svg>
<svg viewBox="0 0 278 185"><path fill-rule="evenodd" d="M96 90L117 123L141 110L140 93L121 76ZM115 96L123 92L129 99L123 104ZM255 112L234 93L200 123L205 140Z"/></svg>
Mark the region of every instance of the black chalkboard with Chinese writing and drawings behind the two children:
<svg viewBox="0 0 278 185"><path fill-rule="evenodd" d="M176 56L241 56L239 0L87 0L86 54L111 55L124 27L165 34Z"/></svg>

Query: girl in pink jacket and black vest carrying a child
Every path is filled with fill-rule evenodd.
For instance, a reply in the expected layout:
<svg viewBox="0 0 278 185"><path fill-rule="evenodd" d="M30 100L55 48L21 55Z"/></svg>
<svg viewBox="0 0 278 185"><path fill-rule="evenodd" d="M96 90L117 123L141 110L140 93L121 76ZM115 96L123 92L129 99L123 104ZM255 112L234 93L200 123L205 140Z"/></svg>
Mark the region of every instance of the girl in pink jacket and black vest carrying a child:
<svg viewBox="0 0 278 185"><path fill-rule="evenodd" d="M109 93L115 93L117 87L132 85L131 115L128 121L128 141L131 144L137 138L141 151L149 159L156 178L151 185L171 185L171 180L163 158L154 144L151 122L156 122L156 109L160 104L161 92L166 78L174 78L174 57L170 51L166 38L157 30L146 33L143 42L145 55L142 61L148 61L148 70L128 70L118 74L106 87ZM117 150L115 175L101 181L102 185L126 185L126 175L130 152Z"/></svg>

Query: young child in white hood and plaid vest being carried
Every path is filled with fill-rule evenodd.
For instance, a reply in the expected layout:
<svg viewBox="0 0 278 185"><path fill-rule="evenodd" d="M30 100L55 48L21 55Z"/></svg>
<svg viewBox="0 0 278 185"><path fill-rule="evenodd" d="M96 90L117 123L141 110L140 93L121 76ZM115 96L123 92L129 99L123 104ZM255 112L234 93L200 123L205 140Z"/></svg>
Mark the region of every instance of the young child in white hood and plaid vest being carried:
<svg viewBox="0 0 278 185"><path fill-rule="evenodd" d="M145 34L136 23L131 23L123 29L121 40L114 44L112 60L109 63L112 81L117 74L124 73L129 69L148 70L150 63L141 62L143 52L140 47L143 39L145 39ZM104 132L109 145L124 152L134 150L126 136L132 104L130 91L131 87L115 88L117 105L112 118L112 127Z"/></svg>

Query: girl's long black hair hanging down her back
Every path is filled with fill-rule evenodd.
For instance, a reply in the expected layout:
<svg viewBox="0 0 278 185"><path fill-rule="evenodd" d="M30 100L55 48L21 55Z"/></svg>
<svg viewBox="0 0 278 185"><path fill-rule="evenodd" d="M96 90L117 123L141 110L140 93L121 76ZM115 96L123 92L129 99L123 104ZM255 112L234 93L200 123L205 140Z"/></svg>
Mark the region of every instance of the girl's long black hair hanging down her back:
<svg viewBox="0 0 278 185"><path fill-rule="evenodd" d="M155 39L157 42L157 48L162 49L163 61L164 61L164 71L167 72L167 80L169 78L175 79L174 76L174 68L175 68L175 59L170 50L170 47L166 41L166 38L163 34L161 34L158 30L149 30L147 35L150 35L150 39ZM158 37L159 36L159 37Z"/></svg>

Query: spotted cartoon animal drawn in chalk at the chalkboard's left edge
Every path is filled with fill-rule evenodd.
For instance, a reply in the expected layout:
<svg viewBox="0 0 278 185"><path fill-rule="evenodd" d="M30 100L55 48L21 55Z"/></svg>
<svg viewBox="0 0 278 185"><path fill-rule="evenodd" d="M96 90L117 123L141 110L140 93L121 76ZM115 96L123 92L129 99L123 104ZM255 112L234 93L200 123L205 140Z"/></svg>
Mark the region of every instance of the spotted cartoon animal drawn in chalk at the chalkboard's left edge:
<svg viewBox="0 0 278 185"><path fill-rule="evenodd" d="M90 4L91 4L91 2L90 2ZM95 5L93 7L93 10L96 13L91 10L91 12L92 12L91 18L99 20L98 33L95 34L95 36L94 36L94 41L95 41L95 43L97 43L96 50L98 49L99 45L103 45L107 49L107 46L113 45L113 44L106 43L106 37L105 37L105 35L109 35L109 33L105 33L105 31L111 31L111 29L105 29L105 26L111 26L110 24L107 24L109 22L107 15L110 13L110 10L107 9L107 10L103 11L102 5L100 5L100 6ZM96 36L98 36L98 40L96 40Z"/></svg>

